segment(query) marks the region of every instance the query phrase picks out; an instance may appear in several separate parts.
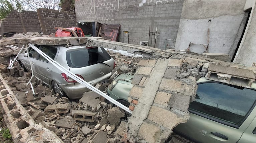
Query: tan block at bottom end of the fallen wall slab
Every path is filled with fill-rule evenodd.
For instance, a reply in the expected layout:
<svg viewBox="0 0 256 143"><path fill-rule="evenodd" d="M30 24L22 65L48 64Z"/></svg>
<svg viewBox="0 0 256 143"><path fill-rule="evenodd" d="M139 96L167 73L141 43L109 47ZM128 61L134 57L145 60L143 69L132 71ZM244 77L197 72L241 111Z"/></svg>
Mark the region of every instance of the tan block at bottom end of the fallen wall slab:
<svg viewBox="0 0 256 143"><path fill-rule="evenodd" d="M143 122L140 126L138 136L149 143L156 143L160 137L161 129L159 125Z"/></svg>

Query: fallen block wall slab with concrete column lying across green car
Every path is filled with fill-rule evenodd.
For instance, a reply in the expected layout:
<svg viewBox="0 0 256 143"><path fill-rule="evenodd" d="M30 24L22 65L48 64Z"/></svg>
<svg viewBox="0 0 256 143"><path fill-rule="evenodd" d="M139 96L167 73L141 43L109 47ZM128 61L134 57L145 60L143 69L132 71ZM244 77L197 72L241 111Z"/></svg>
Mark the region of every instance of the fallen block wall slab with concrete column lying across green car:
<svg viewBox="0 0 256 143"><path fill-rule="evenodd" d="M163 142L177 124L189 118L188 107L197 84L196 78L189 75L177 78L183 62L183 59L140 61L129 94L129 108L134 110L128 122L130 142Z"/></svg>

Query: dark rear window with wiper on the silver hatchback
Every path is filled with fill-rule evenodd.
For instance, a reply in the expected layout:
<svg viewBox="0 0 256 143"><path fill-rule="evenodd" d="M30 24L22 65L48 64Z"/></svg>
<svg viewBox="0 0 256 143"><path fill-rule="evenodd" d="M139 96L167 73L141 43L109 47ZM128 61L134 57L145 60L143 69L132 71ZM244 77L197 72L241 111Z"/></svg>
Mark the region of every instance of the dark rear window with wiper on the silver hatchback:
<svg viewBox="0 0 256 143"><path fill-rule="evenodd" d="M107 61L111 56L102 47L91 47L67 50L66 58L69 67L81 68Z"/></svg>

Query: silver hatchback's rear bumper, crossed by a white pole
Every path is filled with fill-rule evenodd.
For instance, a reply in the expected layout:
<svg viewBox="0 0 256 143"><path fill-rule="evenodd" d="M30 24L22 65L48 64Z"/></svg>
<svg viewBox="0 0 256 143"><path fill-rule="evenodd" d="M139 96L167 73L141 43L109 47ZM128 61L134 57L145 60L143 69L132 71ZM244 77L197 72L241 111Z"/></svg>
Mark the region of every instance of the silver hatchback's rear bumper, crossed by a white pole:
<svg viewBox="0 0 256 143"><path fill-rule="evenodd" d="M92 86L95 86L98 82L101 82L101 81L109 78L111 75L112 75L112 73L110 72L100 78L89 81L88 83L90 83ZM80 83L60 84L59 86L65 92L67 97L70 99L79 99L83 96L84 92L91 91Z"/></svg>

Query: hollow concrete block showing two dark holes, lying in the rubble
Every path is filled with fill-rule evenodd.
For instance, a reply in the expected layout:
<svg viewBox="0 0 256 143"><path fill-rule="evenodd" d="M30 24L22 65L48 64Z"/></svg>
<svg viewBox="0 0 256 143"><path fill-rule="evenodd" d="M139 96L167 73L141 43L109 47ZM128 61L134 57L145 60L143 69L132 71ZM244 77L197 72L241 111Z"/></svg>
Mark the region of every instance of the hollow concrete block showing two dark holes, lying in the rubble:
<svg viewBox="0 0 256 143"><path fill-rule="evenodd" d="M77 121L94 122L97 118L98 112L92 112L90 110L72 110L72 117Z"/></svg>

